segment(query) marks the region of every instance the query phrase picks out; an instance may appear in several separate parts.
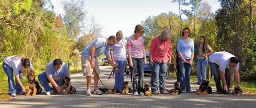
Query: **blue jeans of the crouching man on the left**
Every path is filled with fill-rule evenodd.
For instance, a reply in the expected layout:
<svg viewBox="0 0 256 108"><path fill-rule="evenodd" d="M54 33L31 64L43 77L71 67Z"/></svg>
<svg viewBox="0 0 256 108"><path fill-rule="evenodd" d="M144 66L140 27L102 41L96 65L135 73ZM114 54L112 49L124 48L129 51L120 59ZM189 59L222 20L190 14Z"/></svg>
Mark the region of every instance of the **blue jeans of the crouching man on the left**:
<svg viewBox="0 0 256 108"><path fill-rule="evenodd" d="M46 91L52 91L51 86L49 85L50 81L47 78L46 72L43 72L43 73L39 74L38 75L38 80L42 84L42 86L44 87L44 89ZM55 82L58 86L61 86L62 83L63 83L63 80L62 81L55 81ZM52 86L52 87L53 87L53 89L55 88L54 86Z"/></svg>

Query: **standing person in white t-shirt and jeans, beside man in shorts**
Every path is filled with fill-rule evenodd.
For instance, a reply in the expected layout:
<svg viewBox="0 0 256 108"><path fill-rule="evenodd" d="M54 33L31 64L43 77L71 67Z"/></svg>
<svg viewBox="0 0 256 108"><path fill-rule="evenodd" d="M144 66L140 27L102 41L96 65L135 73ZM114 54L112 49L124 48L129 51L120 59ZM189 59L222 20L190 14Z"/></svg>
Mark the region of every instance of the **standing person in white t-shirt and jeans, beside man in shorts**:
<svg viewBox="0 0 256 108"><path fill-rule="evenodd" d="M123 33L118 31L116 33L116 42L114 45L110 46L110 56L112 61L114 61L114 65L121 72L115 71L115 85L114 88L119 92L122 91L123 81L124 81L124 69L126 68L127 60L126 60L126 43L127 41L123 39Z"/></svg>

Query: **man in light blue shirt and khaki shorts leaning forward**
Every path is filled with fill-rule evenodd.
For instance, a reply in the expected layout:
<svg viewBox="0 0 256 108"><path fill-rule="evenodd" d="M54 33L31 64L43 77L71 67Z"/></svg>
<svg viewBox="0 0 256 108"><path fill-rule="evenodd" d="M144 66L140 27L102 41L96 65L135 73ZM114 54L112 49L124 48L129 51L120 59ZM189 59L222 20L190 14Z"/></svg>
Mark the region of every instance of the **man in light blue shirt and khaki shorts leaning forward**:
<svg viewBox="0 0 256 108"><path fill-rule="evenodd" d="M86 76L87 82L87 93L85 95L91 95L90 85L92 74L94 74L94 94L102 94L102 91L98 89L100 67L97 57L103 53L106 56L107 62L115 69L115 71L120 72L120 70L115 67L109 53L109 47L114 45L115 42L115 36L109 36L107 39L100 37L89 43L83 50L81 54L82 72L84 73L84 76ZM94 68L98 75L94 72Z"/></svg>

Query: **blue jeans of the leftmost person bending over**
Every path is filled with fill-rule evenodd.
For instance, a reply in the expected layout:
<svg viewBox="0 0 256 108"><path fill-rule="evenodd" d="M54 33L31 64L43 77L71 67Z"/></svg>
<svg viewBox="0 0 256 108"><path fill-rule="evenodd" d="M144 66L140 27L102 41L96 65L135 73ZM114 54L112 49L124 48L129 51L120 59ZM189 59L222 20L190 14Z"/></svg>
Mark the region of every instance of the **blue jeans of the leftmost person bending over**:
<svg viewBox="0 0 256 108"><path fill-rule="evenodd" d="M14 85L12 68L5 63L2 63L2 68L3 68L3 71L6 73L6 75L8 76L9 94L11 95L12 93L16 93L16 94L21 93L22 92L21 86L19 85L16 79L15 79L16 86ZM23 76L22 71L19 71L19 79L21 83L22 83L22 76Z"/></svg>

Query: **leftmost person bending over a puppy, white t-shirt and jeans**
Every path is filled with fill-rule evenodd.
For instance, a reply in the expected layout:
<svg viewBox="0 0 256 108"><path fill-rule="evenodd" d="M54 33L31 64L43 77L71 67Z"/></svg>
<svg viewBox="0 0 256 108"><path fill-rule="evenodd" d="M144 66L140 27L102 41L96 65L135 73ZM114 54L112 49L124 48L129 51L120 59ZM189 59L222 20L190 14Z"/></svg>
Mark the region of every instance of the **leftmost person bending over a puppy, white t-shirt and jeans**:
<svg viewBox="0 0 256 108"><path fill-rule="evenodd" d="M8 76L9 94L12 97L15 97L16 94L23 95L24 92L26 92L26 89L22 85L22 70L29 68L31 72L34 72L33 66L29 59L24 59L19 56L7 57L4 58L2 67ZM16 86L14 85L13 73L15 76Z"/></svg>

